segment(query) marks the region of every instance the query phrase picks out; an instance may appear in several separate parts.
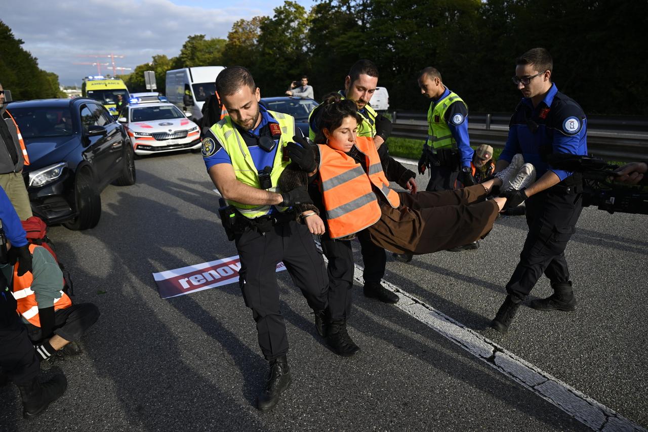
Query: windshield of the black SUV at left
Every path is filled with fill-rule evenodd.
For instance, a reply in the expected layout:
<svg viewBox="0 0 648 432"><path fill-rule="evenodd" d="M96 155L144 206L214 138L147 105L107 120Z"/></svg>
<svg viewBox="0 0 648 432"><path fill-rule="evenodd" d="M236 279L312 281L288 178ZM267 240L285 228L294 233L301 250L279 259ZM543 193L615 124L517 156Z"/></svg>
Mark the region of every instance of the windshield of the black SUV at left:
<svg viewBox="0 0 648 432"><path fill-rule="evenodd" d="M69 107L38 106L12 108L8 111L16 119L23 138L69 137L74 133ZM29 141L26 141L29 145Z"/></svg>

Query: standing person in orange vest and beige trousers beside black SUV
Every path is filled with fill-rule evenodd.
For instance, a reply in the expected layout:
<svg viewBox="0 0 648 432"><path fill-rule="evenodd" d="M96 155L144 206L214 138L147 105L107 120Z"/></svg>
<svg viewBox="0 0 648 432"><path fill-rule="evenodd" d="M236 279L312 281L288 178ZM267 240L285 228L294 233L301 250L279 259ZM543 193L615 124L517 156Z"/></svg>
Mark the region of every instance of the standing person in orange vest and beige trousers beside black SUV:
<svg viewBox="0 0 648 432"><path fill-rule="evenodd" d="M0 186L14 205L18 217L32 216L23 166L29 165L25 141L14 117L6 111L5 91L0 84Z"/></svg>

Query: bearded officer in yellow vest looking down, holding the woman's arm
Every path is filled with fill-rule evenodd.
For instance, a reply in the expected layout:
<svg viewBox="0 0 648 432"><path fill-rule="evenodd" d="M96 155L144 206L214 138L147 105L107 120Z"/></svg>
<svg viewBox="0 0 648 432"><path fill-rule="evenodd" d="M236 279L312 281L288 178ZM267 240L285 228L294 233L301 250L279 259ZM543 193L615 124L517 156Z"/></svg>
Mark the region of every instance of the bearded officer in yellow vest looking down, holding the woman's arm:
<svg viewBox="0 0 648 432"><path fill-rule="evenodd" d="M277 188L281 172L290 163L284 146L300 133L294 118L260 106L259 87L244 67L228 67L218 74L216 91L229 115L205 133L202 153L209 176L231 206L221 216L235 240L240 288L270 363L270 378L257 405L267 410L279 402L291 380L277 263L283 260L316 313L318 326L327 306L328 280L312 235L296 222L291 208L312 202L306 188L287 192Z"/></svg>

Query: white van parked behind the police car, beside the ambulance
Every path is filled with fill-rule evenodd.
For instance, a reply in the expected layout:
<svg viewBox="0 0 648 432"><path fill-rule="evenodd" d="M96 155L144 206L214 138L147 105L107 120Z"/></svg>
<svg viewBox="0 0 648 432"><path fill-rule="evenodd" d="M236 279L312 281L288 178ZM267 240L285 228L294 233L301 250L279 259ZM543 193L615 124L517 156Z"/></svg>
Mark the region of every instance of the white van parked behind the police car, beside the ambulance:
<svg viewBox="0 0 648 432"><path fill-rule="evenodd" d="M167 71L167 99L194 122L202 119L205 100L216 91L216 76L222 66L185 67ZM185 97L186 95L186 97Z"/></svg>

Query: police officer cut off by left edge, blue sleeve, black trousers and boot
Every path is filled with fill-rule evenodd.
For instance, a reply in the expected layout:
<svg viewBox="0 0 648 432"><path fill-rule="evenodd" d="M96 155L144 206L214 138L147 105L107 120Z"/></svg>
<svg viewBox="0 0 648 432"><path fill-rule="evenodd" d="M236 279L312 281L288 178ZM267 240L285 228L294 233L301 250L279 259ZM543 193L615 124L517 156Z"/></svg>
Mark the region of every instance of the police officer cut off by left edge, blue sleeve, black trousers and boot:
<svg viewBox="0 0 648 432"><path fill-rule="evenodd" d="M32 269L31 255L27 249L25 231L3 188L0 188L0 220L6 238L14 245L10 253L6 253L5 244L0 245L0 259L12 264L16 264L17 261L18 274L24 275ZM16 313L16 299L1 271L0 370L0 385L5 383L6 375L18 386L25 418L40 414L61 396L67 387L64 374L56 374L45 383L38 381L40 364L36 358L36 351L29 340L27 329Z"/></svg>

